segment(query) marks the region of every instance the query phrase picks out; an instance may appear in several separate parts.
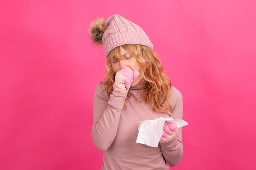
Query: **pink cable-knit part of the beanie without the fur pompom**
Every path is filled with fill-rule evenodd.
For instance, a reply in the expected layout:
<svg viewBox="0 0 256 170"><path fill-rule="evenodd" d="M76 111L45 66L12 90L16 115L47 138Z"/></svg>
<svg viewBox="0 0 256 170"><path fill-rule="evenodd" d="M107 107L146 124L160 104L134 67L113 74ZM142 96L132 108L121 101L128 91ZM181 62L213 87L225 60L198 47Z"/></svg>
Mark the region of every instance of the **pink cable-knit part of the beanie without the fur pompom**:
<svg viewBox="0 0 256 170"><path fill-rule="evenodd" d="M102 37L105 57L114 48L125 44L140 44L153 49L153 44L143 29L124 17L114 14L108 17L106 25L108 28Z"/></svg>

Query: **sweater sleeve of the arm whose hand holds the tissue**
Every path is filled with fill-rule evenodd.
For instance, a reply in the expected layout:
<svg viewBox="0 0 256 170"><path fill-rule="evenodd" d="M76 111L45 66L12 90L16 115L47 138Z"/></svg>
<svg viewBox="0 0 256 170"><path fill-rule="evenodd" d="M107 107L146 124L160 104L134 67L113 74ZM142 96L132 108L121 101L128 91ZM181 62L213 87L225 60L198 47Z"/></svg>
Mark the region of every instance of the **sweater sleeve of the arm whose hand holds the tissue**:
<svg viewBox="0 0 256 170"><path fill-rule="evenodd" d="M171 91L171 105L173 107L172 118L182 119L183 118L183 98L180 91L172 87ZM181 127L178 128L178 134L169 143L160 143L160 147L163 153L163 157L171 167L175 167L183 156L183 142Z"/></svg>

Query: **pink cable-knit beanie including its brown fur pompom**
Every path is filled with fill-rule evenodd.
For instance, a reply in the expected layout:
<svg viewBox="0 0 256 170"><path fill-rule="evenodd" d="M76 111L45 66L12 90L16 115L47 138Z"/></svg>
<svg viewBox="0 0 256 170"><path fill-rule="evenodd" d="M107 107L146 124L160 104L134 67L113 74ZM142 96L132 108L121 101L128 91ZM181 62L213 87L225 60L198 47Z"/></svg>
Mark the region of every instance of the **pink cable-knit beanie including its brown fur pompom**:
<svg viewBox="0 0 256 170"><path fill-rule="evenodd" d="M153 49L153 44L140 26L117 14L108 17L106 22L103 18L94 20L89 32L95 44L104 45L105 57L114 48L125 44L140 44Z"/></svg>

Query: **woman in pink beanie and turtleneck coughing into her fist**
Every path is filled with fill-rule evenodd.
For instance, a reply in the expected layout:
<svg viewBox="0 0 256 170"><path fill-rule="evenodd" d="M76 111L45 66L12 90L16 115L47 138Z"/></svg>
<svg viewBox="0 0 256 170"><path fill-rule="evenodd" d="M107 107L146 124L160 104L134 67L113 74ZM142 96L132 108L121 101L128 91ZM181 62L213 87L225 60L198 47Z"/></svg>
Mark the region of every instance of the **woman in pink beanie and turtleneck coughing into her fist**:
<svg viewBox="0 0 256 170"><path fill-rule="evenodd" d="M142 28L119 15L90 25L90 38L103 44L107 77L96 87L92 138L104 152L102 170L169 170L183 156L181 128L164 124L158 147L136 143L146 119L182 119L181 93L171 85ZM166 163L167 162L167 163Z"/></svg>

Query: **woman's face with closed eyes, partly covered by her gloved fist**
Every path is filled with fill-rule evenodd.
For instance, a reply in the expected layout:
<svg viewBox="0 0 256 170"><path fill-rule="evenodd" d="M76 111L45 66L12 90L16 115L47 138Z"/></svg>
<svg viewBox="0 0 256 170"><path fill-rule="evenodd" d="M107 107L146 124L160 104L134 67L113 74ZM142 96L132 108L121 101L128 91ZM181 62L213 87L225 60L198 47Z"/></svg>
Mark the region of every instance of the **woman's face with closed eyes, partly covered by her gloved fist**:
<svg viewBox="0 0 256 170"><path fill-rule="evenodd" d="M135 57L131 56L122 47L121 47L121 51L122 51L122 56L119 57L119 60L112 62L112 68L115 71L115 73L117 73L119 70L121 70L125 66L131 68L133 71L136 70L140 73L140 64L137 61L137 59ZM140 74L140 76L138 76L134 80L134 82L131 83L131 86L137 85L141 79L142 79L142 75Z"/></svg>

